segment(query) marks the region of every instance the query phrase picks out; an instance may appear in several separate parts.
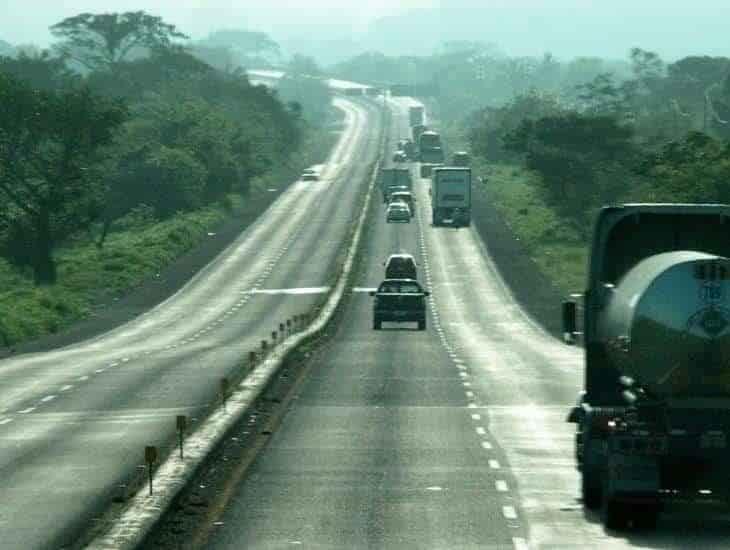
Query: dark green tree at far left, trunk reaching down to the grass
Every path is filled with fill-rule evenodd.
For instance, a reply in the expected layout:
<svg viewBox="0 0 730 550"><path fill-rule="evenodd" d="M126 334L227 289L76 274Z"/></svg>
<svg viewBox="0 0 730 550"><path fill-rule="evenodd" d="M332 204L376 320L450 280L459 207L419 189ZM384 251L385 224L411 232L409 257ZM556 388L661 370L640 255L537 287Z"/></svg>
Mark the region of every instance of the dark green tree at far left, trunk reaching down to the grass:
<svg viewBox="0 0 730 550"><path fill-rule="evenodd" d="M37 284L56 280L55 246L98 215L91 166L126 116L86 88L50 92L0 75L0 209L21 228Z"/></svg>

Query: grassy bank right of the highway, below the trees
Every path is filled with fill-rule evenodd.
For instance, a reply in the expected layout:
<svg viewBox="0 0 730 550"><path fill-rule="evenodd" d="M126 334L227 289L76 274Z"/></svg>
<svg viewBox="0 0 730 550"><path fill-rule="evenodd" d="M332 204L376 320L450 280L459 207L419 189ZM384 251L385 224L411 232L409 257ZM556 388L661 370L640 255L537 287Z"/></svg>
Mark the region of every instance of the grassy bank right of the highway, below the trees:
<svg viewBox="0 0 730 550"><path fill-rule="evenodd" d="M450 151L468 150L461 132L452 128L443 132ZM472 170L474 181L477 176L484 179L497 210L556 288L566 295L582 292L588 244L545 203L540 175L518 164L490 164L479 158L472 159Z"/></svg>

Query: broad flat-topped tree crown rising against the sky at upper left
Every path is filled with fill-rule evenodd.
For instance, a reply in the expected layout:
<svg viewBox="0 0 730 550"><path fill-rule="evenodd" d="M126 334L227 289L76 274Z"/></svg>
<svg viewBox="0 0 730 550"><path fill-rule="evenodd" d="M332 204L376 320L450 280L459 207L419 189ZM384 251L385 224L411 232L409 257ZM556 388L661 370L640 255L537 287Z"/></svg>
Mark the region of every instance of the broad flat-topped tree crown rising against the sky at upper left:
<svg viewBox="0 0 730 550"><path fill-rule="evenodd" d="M134 52L167 49L175 39L188 38L143 11L81 13L53 25L51 34L61 40L58 51L91 70L111 70Z"/></svg>

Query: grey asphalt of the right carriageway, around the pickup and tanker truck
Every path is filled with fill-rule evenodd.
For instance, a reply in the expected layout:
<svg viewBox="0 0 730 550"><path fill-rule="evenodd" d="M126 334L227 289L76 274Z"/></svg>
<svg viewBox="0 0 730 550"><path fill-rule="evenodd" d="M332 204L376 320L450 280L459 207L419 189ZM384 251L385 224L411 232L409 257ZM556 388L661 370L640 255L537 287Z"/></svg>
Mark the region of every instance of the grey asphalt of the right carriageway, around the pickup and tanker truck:
<svg viewBox="0 0 730 550"><path fill-rule="evenodd" d="M727 516L670 508L619 533L583 511L565 422L581 351L523 313L475 230L430 226L427 189L411 224L376 207L344 321L206 548L727 548ZM426 332L372 330L358 290L392 252L420 258Z"/></svg>

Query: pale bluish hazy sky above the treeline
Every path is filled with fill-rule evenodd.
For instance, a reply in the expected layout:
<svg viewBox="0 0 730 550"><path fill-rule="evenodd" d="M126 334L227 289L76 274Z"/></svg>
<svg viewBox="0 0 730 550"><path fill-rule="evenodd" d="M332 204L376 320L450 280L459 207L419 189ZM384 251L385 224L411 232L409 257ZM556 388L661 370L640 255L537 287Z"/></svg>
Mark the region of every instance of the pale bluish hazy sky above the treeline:
<svg viewBox="0 0 730 550"><path fill-rule="evenodd" d="M0 40L47 46L48 27L65 17L132 10L161 15L193 38L263 30L286 51L324 63L365 50L429 54L446 40L564 59L623 58L633 46L669 60L730 55L728 0L0 0Z"/></svg>

